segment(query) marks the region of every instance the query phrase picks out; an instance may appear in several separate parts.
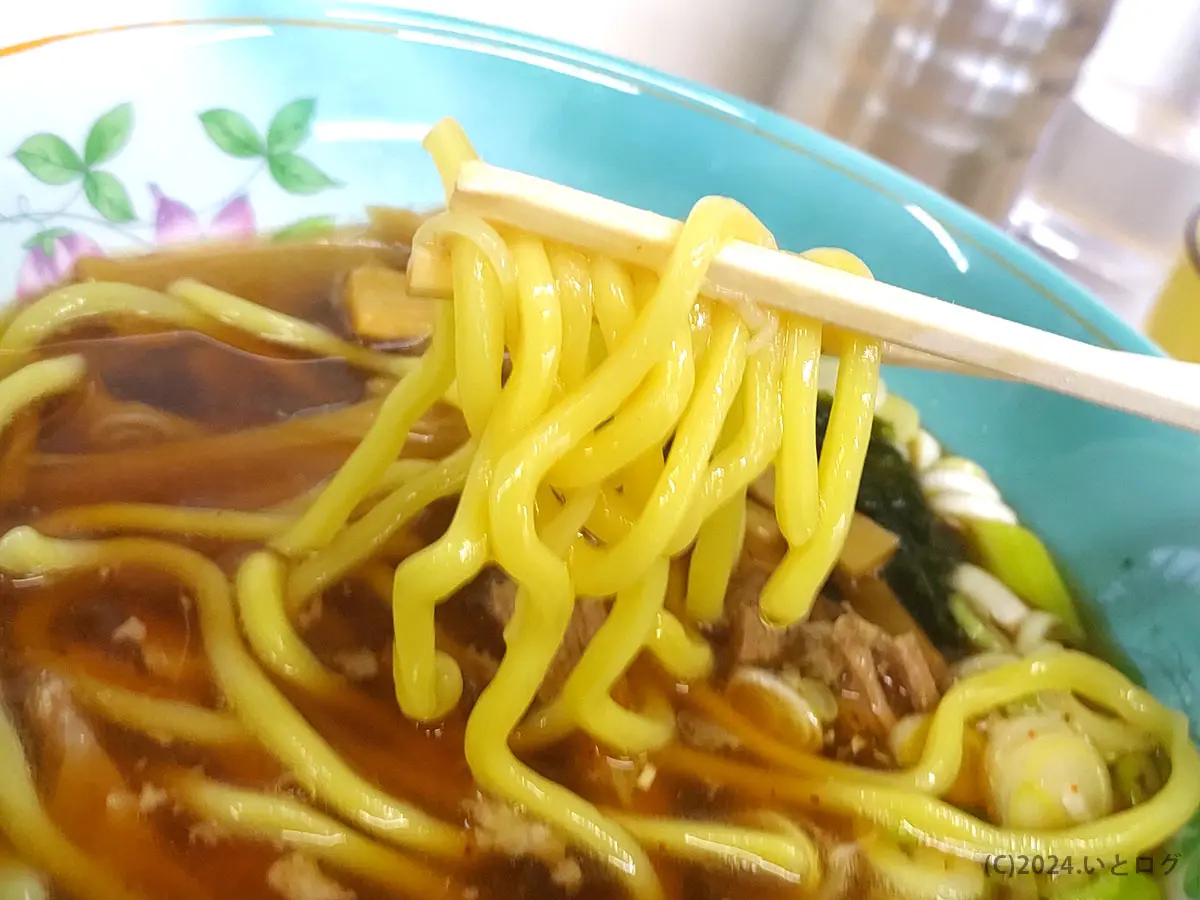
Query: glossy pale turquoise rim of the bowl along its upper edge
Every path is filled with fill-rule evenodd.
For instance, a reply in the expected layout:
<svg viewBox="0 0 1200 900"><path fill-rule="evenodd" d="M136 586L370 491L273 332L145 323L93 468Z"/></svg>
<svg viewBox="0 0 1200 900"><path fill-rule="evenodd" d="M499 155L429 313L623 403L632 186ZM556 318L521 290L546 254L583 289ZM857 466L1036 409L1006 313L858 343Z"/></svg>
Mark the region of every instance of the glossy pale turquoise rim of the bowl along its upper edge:
<svg viewBox="0 0 1200 900"><path fill-rule="evenodd" d="M702 112L792 152L808 156L888 199L917 203L934 215L955 238L991 258L1040 294L1046 302L1073 318L1097 344L1163 355L1157 344L1121 319L1086 288L978 214L860 150L749 100L562 41L439 13L397 10L370 0L336 7L329 7L319 0L218 0L204 4L204 12L208 14L182 14L167 20L113 20L86 30L47 35L11 47L0 47L0 58L36 50L38 47L61 41L119 31L232 24L326 28L377 34L386 34L400 28L419 29L432 34L469 37L493 49L533 53L589 68L599 74L634 82L640 89L653 92L660 98ZM217 14L221 12L226 14Z"/></svg>

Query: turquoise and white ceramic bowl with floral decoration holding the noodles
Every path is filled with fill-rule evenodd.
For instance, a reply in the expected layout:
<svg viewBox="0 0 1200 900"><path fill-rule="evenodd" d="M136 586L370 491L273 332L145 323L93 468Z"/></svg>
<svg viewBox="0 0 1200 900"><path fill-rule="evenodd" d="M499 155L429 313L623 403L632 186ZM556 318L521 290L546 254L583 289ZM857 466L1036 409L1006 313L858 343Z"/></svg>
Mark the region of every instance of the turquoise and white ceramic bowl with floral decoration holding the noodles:
<svg viewBox="0 0 1200 900"><path fill-rule="evenodd" d="M84 253L316 235L367 204L436 205L420 140L452 115L497 164L677 217L727 194L784 247L846 247L883 281L1154 352L971 212L734 97L378 6L155 8L158 22L92 10L86 30L0 50L0 293ZM1043 535L1123 664L1200 722L1200 438L1008 383L887 379Z"/></svg>

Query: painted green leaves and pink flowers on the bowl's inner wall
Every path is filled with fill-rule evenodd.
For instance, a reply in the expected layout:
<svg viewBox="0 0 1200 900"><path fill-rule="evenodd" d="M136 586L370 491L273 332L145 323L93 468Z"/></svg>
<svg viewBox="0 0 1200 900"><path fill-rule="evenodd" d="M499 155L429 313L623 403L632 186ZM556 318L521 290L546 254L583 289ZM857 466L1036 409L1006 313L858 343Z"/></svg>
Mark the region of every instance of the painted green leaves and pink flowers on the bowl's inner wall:
<svg viewBox="0 0 1200 900"><path fill-rule="evenodd" d="M264 176L287 193L301 197L340 187L337 180L300 152L316 113L316 100L294 100L271 118L265 134L233 109L200 113L198 131L229 157L230 181L235 187L216 202L197 208L149 182L149 212L144 216L138 215L126 184L104 168L134 137L131 103L121 103L98 116L79 150L49 132L25 138L12 157L43 185L71 192L61 205L48 209L31 209L28 199L18 196L17 209L0 214L0 224L28 224L31 232L22 240L25 256L17 274L17 296L37 294L58 283L83 257L102 256L101 233L115 233L144 248L204 236L251 236L256 230L251 192ZM238 164L248 172L235 173ZM317 238L332 227L332 216L312 215L276 230L272 238Z"/></svg>

